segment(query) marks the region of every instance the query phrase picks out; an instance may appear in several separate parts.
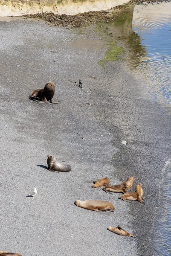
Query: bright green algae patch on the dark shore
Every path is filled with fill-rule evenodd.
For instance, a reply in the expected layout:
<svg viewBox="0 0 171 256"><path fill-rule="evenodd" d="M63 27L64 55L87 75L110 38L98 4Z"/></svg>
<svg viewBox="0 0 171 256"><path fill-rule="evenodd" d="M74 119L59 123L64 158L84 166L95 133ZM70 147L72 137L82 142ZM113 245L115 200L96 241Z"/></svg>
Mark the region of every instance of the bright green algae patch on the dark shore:
<svg viewBox="0 0 171 256"><path fill-rule="evenodd" d="M109 49L105 54L105 59L100 60L98 64L104 67L107 61L117 61L123 52L125 52L124 49L118 46L116 41L113 41L109 44Z"/></svg>

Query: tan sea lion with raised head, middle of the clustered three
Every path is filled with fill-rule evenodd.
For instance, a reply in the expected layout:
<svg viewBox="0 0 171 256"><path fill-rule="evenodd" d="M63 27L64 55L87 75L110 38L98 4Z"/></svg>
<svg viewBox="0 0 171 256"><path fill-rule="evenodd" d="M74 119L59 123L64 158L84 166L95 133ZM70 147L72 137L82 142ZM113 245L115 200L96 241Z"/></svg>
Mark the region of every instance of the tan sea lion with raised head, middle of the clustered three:
<svg viewBox="0 0 171 256"><path fill-rule="evenodd" d="M133 185L133 181L135 180L134 177L129 177L126 181L124 181L123 183L119 184L119 185L108 185L105 186L105 188L103 189L103 191L107 192L123 192L124 194L127 192L128 189L130 189L130 187Z"/></svg>

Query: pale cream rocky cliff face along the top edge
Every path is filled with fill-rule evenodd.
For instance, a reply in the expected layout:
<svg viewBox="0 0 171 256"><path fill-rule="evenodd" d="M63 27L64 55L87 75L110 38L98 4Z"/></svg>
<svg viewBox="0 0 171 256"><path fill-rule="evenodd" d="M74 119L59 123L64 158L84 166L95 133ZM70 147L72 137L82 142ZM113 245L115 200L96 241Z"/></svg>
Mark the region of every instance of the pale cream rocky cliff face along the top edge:
<svg viewBox="0 0 171 256"><path fill-rule="evenodd" d="M21 16L40 12L75 15L100 11L127 3L129 0L0 0L0 17Z"/></svg>

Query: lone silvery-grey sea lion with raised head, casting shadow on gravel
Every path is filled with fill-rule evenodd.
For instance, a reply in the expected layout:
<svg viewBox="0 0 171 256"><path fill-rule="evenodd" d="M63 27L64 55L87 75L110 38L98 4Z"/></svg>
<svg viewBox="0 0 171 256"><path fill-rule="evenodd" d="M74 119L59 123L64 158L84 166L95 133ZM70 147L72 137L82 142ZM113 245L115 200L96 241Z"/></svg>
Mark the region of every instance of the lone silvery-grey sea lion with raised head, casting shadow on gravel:
<svg viewBox="0 0 171 256"><path fill-rule="evenodd" d="M70 172L71 166L69 164L59 163L54 156L47 156L47 165L51 172Z"/></svg>

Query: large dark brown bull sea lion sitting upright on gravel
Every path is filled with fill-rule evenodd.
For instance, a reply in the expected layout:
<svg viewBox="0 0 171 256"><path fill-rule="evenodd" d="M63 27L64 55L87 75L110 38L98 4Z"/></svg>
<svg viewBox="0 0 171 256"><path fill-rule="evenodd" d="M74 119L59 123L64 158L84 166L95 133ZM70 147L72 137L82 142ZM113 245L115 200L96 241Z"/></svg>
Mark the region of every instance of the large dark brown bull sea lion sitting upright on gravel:
<svg viewBox="0 0 171 256"><path fill-rule="evenodd" d="M50 101L51 103L59 104L60 102L52 102L52 98L55 93L55 84L53 82L47 82L44 89L36 89L29 96L29 99L38 101L38 103L45 103Z"/></svg>

